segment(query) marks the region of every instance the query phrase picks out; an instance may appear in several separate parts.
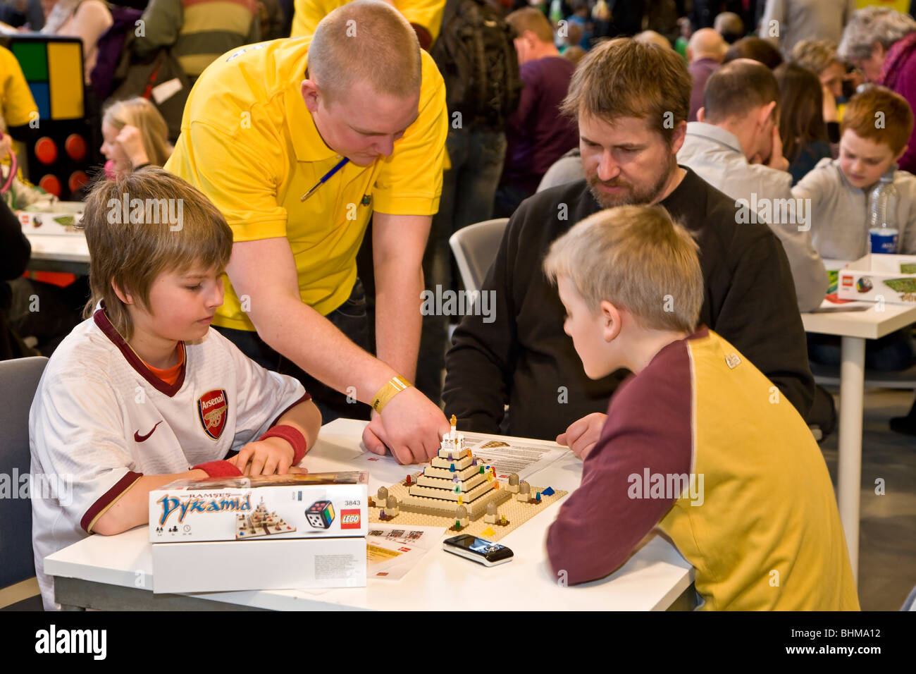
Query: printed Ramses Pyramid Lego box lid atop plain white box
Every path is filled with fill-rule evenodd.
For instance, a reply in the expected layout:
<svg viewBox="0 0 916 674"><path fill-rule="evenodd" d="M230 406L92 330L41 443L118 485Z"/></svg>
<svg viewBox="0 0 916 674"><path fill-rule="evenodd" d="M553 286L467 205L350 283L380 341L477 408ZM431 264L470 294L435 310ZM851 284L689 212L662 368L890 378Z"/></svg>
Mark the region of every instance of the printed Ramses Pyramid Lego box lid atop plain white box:
<svg viewBox="0 0 916 674"><path fill-rule="evenodd" d="M352 470L170 482L149 492L149 540L365 537L367 481Z"/></svg>

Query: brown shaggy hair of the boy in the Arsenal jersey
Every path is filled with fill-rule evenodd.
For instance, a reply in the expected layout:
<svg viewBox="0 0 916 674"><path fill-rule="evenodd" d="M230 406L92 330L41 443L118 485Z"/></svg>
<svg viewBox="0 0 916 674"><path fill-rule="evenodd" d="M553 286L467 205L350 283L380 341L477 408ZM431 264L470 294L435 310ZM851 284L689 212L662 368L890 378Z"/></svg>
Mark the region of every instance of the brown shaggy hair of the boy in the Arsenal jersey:
<svg viewBox="0 0 916 674"><path fill-rule="evenodd" d="M84 314L92 315L103 301L114 329L127 340L133 322L113 286L148 310L149 291L159 274L223 271L232 254L232 230L216 206L177 175L155 167L97 182L81 227L92 290Z"/></svg>

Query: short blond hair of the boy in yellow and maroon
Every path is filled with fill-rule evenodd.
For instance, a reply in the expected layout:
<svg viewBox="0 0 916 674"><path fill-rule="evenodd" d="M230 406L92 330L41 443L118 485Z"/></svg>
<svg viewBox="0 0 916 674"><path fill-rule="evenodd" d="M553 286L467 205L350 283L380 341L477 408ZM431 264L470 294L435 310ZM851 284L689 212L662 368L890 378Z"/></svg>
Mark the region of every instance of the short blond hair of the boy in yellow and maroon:
<svg viewBox="0 0 916 674"><path fill-rule="evenodd" d="M554 241L544 272L572 282L593 312L606 300L649 329L693 332L703 305L697 250L664 207L617 206Z"/></svg>

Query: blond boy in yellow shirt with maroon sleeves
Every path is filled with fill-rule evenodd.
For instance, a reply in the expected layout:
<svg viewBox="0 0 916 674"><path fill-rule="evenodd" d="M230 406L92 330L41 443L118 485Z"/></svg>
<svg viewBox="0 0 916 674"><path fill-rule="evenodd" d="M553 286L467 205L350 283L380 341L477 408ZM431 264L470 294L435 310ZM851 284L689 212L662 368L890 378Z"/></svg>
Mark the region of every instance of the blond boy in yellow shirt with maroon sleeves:
<svg viewBox="0 0 916 674"><path fill-rule="evenodd" d="M585 373L635 373L583 452L547 549L570 583L601 578L658 526L706 610L858 610L834 490L808 426L754 365L696 328L696 244L660 206L592 215L544 262Z"/></svg>

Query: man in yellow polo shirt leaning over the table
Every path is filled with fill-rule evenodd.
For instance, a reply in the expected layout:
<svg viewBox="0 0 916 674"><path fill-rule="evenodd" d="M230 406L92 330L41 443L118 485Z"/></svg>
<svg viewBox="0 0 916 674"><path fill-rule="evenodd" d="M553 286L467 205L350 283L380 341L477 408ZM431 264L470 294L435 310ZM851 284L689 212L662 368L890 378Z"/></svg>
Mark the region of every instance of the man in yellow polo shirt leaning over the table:
<svg viewBox="0 0 916 674"><path fill-rule="evenodd" d="M372 404L365 446L387 446L402 463L431 457L449 427L408 383L447 126L442 76L408 22L357 0L312 38L214 61L165 167L233 229L231 287L213 324L265 367L299 376L325 421L358 415L347 403ZM364 350L355 263L373 213L377 359ZM347 403L335 405L319 381Z"/></svg>

